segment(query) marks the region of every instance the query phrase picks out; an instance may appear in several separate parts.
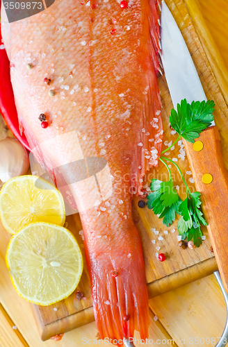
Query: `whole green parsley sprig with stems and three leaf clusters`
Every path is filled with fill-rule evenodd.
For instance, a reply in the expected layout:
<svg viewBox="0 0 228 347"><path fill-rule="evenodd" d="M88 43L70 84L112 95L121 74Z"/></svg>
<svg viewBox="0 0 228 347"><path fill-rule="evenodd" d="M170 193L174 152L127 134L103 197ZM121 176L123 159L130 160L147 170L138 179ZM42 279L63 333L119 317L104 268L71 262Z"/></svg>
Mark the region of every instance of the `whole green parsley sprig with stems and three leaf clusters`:
<svg viewBox="0 0 228 347"><path fill-rule="evenodd" d="M170 114L170 124L174 130L177 131L178 137L174 143L161 152L161 154L168 151L178 140L183 137L186 141L194 143L194 140L199 137L199 134L209 126L213 121L213 110L215 103L211 100L208 101L193 101L191 104L187 103L186 99L181 100L177 104L177 111L172 109ZM152 209L159 218L163 218L163 224L170 226L176 219L176 214L180 214L181 218L177 223L177 228L181 239L190 241L193 239L195 246L199 247L202 244L202 230L200 227L207 226L206 220L200 210L201 201L200 193L191 193L186 183L186 180L181 173L176 162L170 158L161 156L161 162L165 164L165 160L171 162L177 167L181 175L184 185L186 186L186 199L181 201L177 194L177 190L173 186L170 168L167 164L165 167L169 172L169 180L163 182L161 180L153 179L150 185L152 193L148 195L147 206Z"/></svg>

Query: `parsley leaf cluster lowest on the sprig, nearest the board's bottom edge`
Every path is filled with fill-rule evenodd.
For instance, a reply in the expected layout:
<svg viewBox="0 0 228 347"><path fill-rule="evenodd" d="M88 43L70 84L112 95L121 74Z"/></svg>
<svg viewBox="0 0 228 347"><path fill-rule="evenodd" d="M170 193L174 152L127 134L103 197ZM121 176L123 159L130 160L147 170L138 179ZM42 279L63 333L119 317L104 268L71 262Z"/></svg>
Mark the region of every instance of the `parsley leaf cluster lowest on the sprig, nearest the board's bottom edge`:
<svg viewBox="0 0 228 347"><path fill-rule="evenodd" d="M177 223L177 228L181 239L187 237L190 241L193 239L195 246L199 247L202 244L202 231L200 230L200 225L207 226L207 223L202 217L202 212L199 210L201 201L200 193L195 192L188 194L187 198L179 205L179 212L181 213L181 218Z"/></svg>

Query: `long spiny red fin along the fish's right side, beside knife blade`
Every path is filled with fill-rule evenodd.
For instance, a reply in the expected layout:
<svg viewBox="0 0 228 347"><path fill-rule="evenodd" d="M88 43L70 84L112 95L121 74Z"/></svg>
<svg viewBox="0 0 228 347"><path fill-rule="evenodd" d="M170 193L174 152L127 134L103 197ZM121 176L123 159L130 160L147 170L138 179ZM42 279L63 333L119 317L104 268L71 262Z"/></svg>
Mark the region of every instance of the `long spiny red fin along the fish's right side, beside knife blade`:
<svg viewBox="0 0 228 347"><path fill-rule="evenodd" d="M136 195L140 194L142 179L146 171L151 167L158 166L163 144L163 125L161 120L161 96L158 90L157 73L161 71L161 53L159 12L160 1L149 0L145 12L145 26L149 26L149 38L147 47L149 60L145 63L147 67L147 83L145 99L142 103L142 129L140 129L140 145L137 146L134 162L136 169L131 174L131 187ZM148 15L149 13L149 15Z"/></svg>

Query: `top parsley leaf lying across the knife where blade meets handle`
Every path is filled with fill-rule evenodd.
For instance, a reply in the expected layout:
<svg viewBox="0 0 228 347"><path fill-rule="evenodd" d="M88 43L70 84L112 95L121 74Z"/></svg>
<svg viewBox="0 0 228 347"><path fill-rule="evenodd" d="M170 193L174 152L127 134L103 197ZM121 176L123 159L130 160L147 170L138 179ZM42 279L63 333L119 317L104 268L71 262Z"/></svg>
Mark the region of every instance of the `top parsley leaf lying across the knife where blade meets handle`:
<svg viewBox="0 0 228 347"><path fill-rule="evenodd" d="M184 139L194 143L202 130L211 126L214 105L211 100L193 101L191 104L187 103L186 99L181 100L181 104L177 104L177 111L171 110L170 124Z"/></svg>

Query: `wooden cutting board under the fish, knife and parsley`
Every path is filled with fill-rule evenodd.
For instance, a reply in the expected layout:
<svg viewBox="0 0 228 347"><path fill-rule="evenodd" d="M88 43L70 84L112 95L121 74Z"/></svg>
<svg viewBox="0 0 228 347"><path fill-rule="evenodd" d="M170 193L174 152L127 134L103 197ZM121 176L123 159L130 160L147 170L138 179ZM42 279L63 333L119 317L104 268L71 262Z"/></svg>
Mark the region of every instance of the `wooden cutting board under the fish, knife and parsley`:
<svg viewBox="0 0 228 347"><path fill-rule="evenodd" d="M195 22L195 27L193 26L193 22L191 21L186 8L186 4L189 6L189 1L185 0L184 2L184 0L166 0L165 2L168 4L172 15L176 19L177 24L184 35L184 39L186 40L188 49L197 67L199 78L202 81L207 98L215 101L215 123L220 130L220 135L222 138L222 155L225 160L226 167L228 168L228 109L225 99L222 96L222 92L226 92L226 87L223 85L221 92L217 82L220 78L220 74L214 67L213 71L215 74L216 71L218 72L215 78L214 72L209 64L209 60L212 64L213 56L218 57L218 55L213 46L210 47L211 53L206 51L204 47L206 51L205 53L197 32L195 31L195 27L197 26L197 29L202 29L204 32L206 29L199 20L198 22ZM195 15L197 13L197 8L193 8L192 6L193 3L194 1L191 0L191 15ZM193 20L196 20L195 17ZM203 43L205 44L205 42ZM222 78L220 78L219 82L221 86ZM168 120L168 116L170 115L170 110L172 108L172 101L170 99L165 76L158 77L158 85L163 104L162 117L164 142L174 142L177 135L173 135L171 133L172 130L170 129ZM164 149L166 148L165 145L163 145L163 147ZM185 173L184 176L186 177L188 184L190 187L192 187L192 189L195 189L194 183L190 183L190 178L192 178L192 176L186 174L187 171L190 171L188 160L179 159L179 149L180 147L176 145L175 149L170 151L169 158L178 159L179 166L181 167L182 172ZM179 185L179 194L181 198L184 198L185 189L181 183L179 174L174 167L172 167L172 175L174 185ZM163 180L168 179L167 171L162 164L159 165L158 168L152 169L147 173L143 185L149 185L152 178L160 178ZM189 248L184 250L178 245L177 222L170 226L170 228L163 226L162 221L158 219L158 217L154 215L151 210L148 210L147 208L138 208L138 200L139 198L133 199L133 216L140 233L140 239L145 256L145 269L150 297L157 296L158 294L162 294L170 289L180 287L181 285L192 282L193 280L208 276L217 269L214 255L210 251L211 242L209 240L206 228L203 230L206 240L203 242L202 246L199 248L194 248L193 250L190 250ZM79 231L81 230L81 221L79 219L79 215L74 214L72 216L68 216L67 223L67 228L74 233L83 252L83 242L81 236L79 235ZM10 235L3 230L2 226L0 226L0 232L1 235L4 235L4 237L10 238ZM165 260L165 262L158 262L156 253L165 253L167 260ZM90 280L86 265L83 270L81 282L79 283L76 291L81 291L85 299L78 301L75 299L75 294L72 294L64 301L49 307L32 305L42 340L49 339L51 336L61 332L67 332L94 320ZM54 308L57 310L54 310Z"/></svg>

